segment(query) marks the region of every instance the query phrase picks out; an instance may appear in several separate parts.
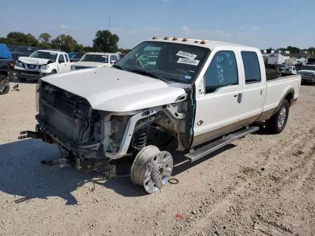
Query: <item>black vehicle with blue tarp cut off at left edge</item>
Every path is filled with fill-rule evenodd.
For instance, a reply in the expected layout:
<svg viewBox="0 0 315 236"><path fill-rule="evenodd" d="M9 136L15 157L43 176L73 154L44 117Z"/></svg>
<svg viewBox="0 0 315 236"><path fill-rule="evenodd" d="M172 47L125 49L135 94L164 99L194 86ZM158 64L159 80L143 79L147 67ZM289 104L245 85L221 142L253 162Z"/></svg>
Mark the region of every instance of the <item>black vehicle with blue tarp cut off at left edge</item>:
<svg viewBox="0 0 315 236"><path fill-rule="evenodd" d="M4 43L0 43L0 95L9 92L13 80L14 59Z"/></svg>

